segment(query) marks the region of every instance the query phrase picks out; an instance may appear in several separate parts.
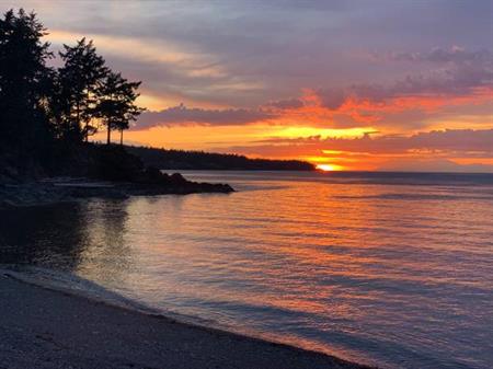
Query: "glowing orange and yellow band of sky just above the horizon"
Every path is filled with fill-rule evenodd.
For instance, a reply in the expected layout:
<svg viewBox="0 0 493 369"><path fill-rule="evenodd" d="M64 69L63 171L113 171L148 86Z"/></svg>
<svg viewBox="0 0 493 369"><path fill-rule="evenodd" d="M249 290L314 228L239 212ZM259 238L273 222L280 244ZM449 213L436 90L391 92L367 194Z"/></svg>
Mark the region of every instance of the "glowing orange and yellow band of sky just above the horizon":
<svg viewBox="0 0 493 369"><path fill-rule="evenodd" d="M420 132L429 131L450 131L450 130L471 130L468 134L482 136L484 132L485 140L493 139L491 124L493 115L475 116L475 115L455 115L448 118L444 124L442 119L434 122L434 116L439 116L444 109L450 107L463 106L491 106L492 91L481 89L474 91L470 95L442 97L442 96L406 96L390 99L386 102L357 101L348 97L336 109L324 107L316 96L305 96L303 106L296 108L273 109L272 107L263 107L273 111L275 117L268 119L260 119L246 125L223 125L214 126L206 123L197 123L194 120L183 122L177 126L154 126L146 129L136 127L126 132L126 142L133 145L146 145L158 148L177 148L186 150L211 150L220 152L239 152L254 158L273 158L273 159L301 159L307 160L321 170L356 170L356 171L375 171L380 169L399 170L399 163L402 168L416 170L423 168L427 170L440 170L444 161L447 161L444 171L450 170L452 163L458 165L492 165L493 158L491 151L478 155L473 155L474 146L471 143L470 150L440 150L433 148L433 141L428 142L429 148L410 147L402 148L401 152L381 152L365 151L365 146L354 151L352 148L344 149L344 141L352 139L360 139L369 137L378 140L392 136L412 137ZM414 108L421 108L429 115L431 123L426 130L421 127L417 129L409 129L399 125L382 125L388 114L403 114ZM348 127L339 127L335 116L345 115L352 120ZM334 128L329 128L335 126ZM340 139L342 145L337 145L337 150L333 150L331 142L323 143L324 139ZM104 135L100 135L96 139L104 140ZM313 146L310 140L317 139L318 145ZM459 136L459 140L462 138ZM467 138L465 138L467 139ZM289 142L293 140L295 142ZM452 138L457 141L457 137ZM265 148L268 142L270 148ZM493 141L492 146L493 146ZM472 153L472 155L471 155ZM408 165L408 164L413 165ZM458 170L461 170L460 168ZM479 170L484 170L480 168ZM488 170L488 168L486 168ZM478 171L478 169L475 170Z"/></svg>

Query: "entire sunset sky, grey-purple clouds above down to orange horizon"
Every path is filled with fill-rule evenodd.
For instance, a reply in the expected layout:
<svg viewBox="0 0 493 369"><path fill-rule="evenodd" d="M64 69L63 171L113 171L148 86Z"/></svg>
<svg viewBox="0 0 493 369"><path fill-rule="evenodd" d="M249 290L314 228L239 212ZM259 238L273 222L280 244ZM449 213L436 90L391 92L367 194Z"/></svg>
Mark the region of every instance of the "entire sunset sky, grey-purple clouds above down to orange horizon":
<svg viewBox="0 0 493 369"><path fill-rule="evenodd" d="M493 172L493 0L0 3L142 81L127 143Z"/></svg>

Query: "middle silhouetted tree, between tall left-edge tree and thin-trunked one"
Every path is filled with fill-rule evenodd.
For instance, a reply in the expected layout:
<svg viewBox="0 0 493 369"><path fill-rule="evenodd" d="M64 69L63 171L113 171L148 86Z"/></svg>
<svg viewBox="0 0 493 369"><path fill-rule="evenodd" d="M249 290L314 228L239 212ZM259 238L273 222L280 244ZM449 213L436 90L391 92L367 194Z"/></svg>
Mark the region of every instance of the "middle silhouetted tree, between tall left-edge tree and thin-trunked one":
<svg viewBox="0 0 493 369"><path fill-rule="evenodd" d="M65 62L58 70L58 94L60 109L66 115L64 124L66 131L76 138L88 141L89 136L98 131L93 125L98 106L98 89L108 73L103 57L85 37L77 42L76 46L64 45L59 55Z"/></svg>

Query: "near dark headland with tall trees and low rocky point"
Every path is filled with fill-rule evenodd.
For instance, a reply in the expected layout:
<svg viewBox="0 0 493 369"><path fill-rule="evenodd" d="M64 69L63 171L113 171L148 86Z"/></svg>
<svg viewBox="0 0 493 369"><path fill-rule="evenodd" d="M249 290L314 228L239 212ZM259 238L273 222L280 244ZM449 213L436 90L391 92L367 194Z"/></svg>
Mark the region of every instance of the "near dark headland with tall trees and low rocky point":
<svg viewBox="0 0 493 369"><path fill-rule="evenodd" d="M22 9L0 19L0 185L44 178L41 189L24 186L24 193L38 197L39 189L57 198L60 193L68 198L232 191L162 174L128 153L121 143L124 130L144 111L136 104L140 82L112 70L85 38L55 55L43 41L47 34L36 14ZM55 58L58 67L51 62ZM106 145L91 143L90 137L101 129L107 132ZM119 145L112 145L114 131ZM56 176L123 185L101 189L88 183L46 184ZM15 203L16 188L1 187L0 204Z"/></svg>

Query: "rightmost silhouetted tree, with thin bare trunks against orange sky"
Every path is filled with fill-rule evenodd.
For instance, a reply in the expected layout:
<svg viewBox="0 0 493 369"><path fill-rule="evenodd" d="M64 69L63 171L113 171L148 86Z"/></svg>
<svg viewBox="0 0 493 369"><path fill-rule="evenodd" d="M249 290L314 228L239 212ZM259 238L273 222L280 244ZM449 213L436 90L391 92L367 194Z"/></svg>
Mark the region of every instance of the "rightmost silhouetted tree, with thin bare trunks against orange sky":
<svg viewBox="0 0 493 369"><path fill-rule="evenodd" d="M96 116L102 119L107 129L106 143L111 143L111 132L118 129L121 145L123 145L123 131L129 128L144 108L135 104L139 96L137 89L141 82L128 82L121 73L108 72L103 80L99 94L99 104L95 108Z"/></svg>

